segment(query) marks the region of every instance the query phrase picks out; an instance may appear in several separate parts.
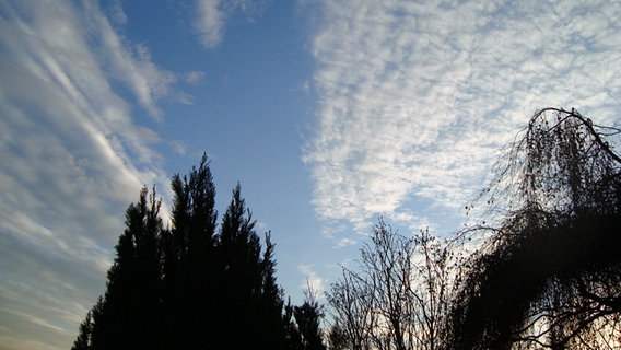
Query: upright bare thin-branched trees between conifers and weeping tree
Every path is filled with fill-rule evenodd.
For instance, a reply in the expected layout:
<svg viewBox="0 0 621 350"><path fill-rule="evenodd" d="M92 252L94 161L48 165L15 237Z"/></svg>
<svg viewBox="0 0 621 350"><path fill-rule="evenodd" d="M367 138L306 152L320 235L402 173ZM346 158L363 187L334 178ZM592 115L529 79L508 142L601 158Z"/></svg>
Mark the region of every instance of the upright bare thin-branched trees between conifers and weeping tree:
<svg viewBox="0 0 621 350"><path fill-rule="evenodd" d="M384 220L328 293L351 349L438 349L448 310L449 250L429 233L406 237Z"/></svg>

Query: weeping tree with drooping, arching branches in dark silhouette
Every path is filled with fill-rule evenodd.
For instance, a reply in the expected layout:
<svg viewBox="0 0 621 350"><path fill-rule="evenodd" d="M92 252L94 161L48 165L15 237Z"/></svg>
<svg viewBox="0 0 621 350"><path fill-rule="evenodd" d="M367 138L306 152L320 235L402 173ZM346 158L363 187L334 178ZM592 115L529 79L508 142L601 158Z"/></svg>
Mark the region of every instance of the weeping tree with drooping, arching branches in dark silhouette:
<svg viewBox="0 0 621 350"><path fill-rule="evenodd" d="M612 347L621 340L621 159L575 109L546 108L495 166L487 220L450 315L456 349ZM494 214L499 214L497 215Z"/></svg>

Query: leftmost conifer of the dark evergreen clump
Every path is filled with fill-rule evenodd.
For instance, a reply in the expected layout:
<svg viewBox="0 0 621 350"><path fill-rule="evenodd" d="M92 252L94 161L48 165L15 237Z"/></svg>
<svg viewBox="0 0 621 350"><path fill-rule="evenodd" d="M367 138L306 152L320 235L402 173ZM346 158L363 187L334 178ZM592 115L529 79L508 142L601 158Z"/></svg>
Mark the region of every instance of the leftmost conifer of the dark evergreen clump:
<svg viewBox="0 0 621 350"><path fill-rule="evenodd" d="M155 190L143 188L126 211L126 230L116 246L107 290L93 312L91 349L156 349L161 311L160 255L162 232ZM83 343L83 342L82 342Z"/></svg>

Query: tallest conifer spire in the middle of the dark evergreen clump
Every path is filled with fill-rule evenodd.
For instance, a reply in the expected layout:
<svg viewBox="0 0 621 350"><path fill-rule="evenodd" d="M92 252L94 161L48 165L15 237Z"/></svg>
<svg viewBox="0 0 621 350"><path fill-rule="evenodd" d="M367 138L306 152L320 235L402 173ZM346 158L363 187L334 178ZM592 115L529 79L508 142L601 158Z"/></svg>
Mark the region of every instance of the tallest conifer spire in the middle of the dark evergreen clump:
<svg viewBox="0 0 621 350"><path fill-rule="evenodd" d="M163 237L167 343L192 348L213 329L214 243L218 211L207 154L187 176L173 176L171 233Z"/></svg>

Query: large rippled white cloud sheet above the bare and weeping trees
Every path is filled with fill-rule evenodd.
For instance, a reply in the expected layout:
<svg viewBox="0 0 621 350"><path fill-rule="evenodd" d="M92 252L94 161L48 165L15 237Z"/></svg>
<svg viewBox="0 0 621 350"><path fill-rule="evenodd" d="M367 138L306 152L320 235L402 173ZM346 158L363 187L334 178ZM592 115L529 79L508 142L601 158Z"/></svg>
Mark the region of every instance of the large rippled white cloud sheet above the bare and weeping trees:
<svg viewBox="0 0 621 350"><path fill-rule="evenodd" d="M619 116L621 7L610 1L320 1L317 214L368 229L457 214L536 109ZM417 203L415 206L412 203Z"/></svg>

